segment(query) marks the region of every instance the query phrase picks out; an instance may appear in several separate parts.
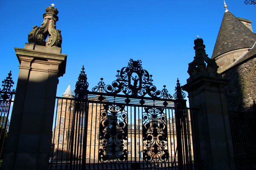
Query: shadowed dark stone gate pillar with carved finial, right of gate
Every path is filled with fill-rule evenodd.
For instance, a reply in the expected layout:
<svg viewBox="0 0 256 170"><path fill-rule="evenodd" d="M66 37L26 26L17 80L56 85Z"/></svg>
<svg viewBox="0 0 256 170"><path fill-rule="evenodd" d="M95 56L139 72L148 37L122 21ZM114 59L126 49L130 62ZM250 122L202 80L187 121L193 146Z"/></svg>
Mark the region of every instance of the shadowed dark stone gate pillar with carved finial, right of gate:
<svg viewBox="0 0 256 170"><path fill-rule="evenodd" d="M189 96L194 160L202 169L235 170L232 138L224 86L228 80L217 73L214 59L205 54L202 39L195 40L195 59L189 63ZM207 66L205 64L207 63ZM194 110L195 109L195 110Z"/></svg>

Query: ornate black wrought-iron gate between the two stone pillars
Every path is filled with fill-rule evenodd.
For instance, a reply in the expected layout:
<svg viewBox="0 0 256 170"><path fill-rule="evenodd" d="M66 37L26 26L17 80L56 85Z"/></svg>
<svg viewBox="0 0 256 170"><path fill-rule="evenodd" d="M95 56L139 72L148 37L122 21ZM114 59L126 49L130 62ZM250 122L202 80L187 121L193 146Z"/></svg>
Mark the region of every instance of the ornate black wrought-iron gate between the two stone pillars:
<svg viewBox="0 0 256 170"><path fill-rule="evenodd" d="M60 130L61 116L56 116L60 122L57 121L54 131L63 134L55 135L58 142L53 143L58 148L52 149L51 159L56 161L50 169L192 168L189 110L179 81L174 96L168 94L166 86L159 91L141 61L133 59L117 71L116 77L111 85L105 85L101 78L88 91L83 67L76 83L75 99L58 99L59 114L66 109L62 114L73 118L65 118L65 128ZM62 151L58 151L59 147ZM53 150L57 155L54 156Z"/></svg>

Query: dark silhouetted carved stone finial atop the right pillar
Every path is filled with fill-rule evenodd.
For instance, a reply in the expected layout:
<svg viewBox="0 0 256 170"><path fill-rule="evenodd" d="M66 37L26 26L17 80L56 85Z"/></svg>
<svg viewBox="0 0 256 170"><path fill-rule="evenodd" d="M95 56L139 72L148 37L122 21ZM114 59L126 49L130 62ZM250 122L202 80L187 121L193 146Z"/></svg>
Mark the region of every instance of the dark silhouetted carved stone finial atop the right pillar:
<svg viewBox="0 0 256 170"><path fill-rule="evenodd" d="M194 60L189 63L189 76L193 76L200 71L217 73L218 65L216 64L215 59L210 59L205 53L203 39L198 37L195 39L194 43L195 57ZM205 62L207 63L207 66Z"/></svg>

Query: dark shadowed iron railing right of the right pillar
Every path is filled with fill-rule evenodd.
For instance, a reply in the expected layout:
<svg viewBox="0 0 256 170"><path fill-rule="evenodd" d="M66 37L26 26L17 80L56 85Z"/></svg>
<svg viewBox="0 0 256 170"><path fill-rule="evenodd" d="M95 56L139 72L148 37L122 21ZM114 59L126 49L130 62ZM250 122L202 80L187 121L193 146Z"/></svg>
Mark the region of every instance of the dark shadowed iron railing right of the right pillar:
<svg viewBox="0 0 256 170"><path fill-rule="evenodd" d="M229 112L230 129L237 170L256 169L256 109L254 112Z"/></svg>

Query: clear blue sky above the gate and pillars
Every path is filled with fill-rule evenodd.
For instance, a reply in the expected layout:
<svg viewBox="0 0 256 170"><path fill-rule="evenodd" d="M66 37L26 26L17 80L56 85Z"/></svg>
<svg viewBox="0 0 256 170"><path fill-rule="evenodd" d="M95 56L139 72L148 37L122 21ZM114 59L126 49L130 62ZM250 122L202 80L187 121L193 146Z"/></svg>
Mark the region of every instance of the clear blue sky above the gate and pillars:
<svg viewBox="0 0 256 170"><path fill-rule="evenodd" d="M141 59L154 85L160 90L166 85L173 94L177 77L181 85L189 78L196 35L212 56L225 10L222 0L0 0L0 80L12 70L16 87L19 62L14 47L24 47L32 26L41 26L51 3L59 11L56 26L61 30L62 54L67 54L57 96L69 82L75 90L82 65L91 90L101 77L110 84L130 58ZM256 31L256 5L245 5L244 0L226 3L236 17L252 20Z"/></svg>

